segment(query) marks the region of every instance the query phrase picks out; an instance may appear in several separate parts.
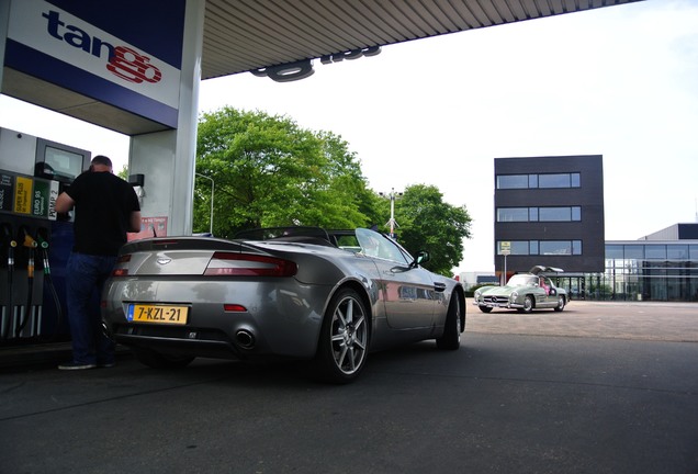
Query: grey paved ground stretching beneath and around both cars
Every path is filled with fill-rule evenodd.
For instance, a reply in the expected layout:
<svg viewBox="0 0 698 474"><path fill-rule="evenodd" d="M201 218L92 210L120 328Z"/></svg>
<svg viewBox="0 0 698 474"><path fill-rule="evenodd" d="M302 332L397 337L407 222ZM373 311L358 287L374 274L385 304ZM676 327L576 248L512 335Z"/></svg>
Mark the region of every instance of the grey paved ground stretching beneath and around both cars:
<svg viewBox="0 0 698 474"><path fill-rule="evenodd" d="M304 364L0 373L0 472L697 473L696 305L482 314L463 347Z"/></svg>

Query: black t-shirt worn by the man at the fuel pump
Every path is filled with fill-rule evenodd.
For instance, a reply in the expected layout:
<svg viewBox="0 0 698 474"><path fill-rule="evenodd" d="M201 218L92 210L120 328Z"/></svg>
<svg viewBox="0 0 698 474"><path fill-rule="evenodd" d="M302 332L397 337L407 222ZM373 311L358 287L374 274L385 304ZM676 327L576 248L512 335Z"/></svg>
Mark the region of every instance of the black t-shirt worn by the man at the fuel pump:
<svg viewBox="0 0 698 474"><path fill-rule="evenodd" d="M126 242L131 213L140 211L133 187L111 172L83 172L66 193L75 201L72 250L115 256Z"/></svg>

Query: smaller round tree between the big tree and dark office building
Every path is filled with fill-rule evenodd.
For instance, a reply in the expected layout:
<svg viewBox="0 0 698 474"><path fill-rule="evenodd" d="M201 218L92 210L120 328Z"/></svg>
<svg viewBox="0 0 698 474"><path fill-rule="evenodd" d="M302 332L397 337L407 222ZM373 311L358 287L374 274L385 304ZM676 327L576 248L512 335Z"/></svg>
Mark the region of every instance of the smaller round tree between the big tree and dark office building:
<svg viewBox="0 0 698 474"><path fill-rule="evenodd" d="M413 255L427 250L431 260L425 267L451 276L463 259L463 239L470 238L472 218L465 206L452 206L442 198L434 185L408 187L395 205L395 219L401 245Z"/></svg>

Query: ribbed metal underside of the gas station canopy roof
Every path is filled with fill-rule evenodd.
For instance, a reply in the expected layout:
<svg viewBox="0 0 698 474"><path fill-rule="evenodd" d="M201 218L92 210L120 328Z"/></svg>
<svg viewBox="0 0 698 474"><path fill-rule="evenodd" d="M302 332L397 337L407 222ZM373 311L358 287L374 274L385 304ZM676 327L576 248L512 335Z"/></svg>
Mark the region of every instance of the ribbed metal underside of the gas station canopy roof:
<svg viewBox="0 0 698 474"><path fill-rule="evenodd" d="M209 0L202 78L635 0Z"/></svg>

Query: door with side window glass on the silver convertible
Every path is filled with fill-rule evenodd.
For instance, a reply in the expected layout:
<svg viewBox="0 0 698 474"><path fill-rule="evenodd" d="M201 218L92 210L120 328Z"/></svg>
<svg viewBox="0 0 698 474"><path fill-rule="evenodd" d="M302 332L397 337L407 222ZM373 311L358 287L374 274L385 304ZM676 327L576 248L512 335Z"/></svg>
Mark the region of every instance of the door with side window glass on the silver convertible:
<svg viewBox="0 0 698 474"><path fill-rule="evenodd" d="M370 234L361 234L361 230ZM370 246L367 255L378 267L389 326L393 329L430 328L438 302L431 273L412 267L412 257L390 238L367 229L357 229L357 234L362 247L363 242Z"/></svg>

